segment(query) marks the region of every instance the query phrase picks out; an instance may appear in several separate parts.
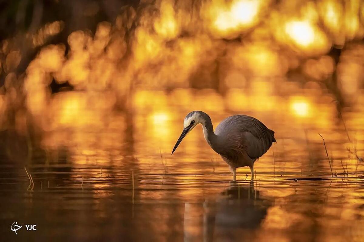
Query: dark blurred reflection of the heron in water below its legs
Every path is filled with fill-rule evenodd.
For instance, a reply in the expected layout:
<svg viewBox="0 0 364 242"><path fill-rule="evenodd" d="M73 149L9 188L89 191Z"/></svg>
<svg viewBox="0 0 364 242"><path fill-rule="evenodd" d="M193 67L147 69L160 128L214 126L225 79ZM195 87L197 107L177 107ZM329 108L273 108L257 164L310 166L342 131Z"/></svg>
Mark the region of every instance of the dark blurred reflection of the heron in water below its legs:
<svg viewBox="0 0 364 242"><path fill-rule="evenodd" d="M229 186L216 200L203 202L203 209L186 204L185 241L201 240L201 237L203 241L240 240L242 235L252 238L251 232L260 227L271 204L252 185Z"/></svg>

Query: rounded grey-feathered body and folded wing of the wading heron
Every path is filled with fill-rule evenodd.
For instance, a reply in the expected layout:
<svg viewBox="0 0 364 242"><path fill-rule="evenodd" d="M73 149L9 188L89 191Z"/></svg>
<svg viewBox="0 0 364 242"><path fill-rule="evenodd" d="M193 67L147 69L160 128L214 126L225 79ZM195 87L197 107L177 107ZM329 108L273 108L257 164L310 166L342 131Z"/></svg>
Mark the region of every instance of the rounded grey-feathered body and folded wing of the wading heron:
<svg viewBox="0 0 364 242"><path fill-rule="evenodd" d="M234 115L224 119L215 130L224 143L223 156L238 159L246 153L256 160L268 151L274 139L274 131L269 130L258 119L246 115Z"/></svg>

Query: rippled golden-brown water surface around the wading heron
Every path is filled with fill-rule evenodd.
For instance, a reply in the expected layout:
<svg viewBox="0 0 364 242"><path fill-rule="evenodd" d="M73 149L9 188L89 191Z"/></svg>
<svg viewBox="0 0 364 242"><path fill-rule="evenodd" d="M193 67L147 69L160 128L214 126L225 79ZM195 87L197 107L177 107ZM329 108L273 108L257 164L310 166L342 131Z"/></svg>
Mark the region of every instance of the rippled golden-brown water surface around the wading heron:
<svg viewBox="0 0 364 242"><path fill-rule="evenodd" d="M354 155L355 149L363 155L361 106L341 111L345 131L335 106L321 99L311 104L304 99L297 106L296 99L273 98L280 105L260 107L252 97L246 99L249 109L234 102L222 105L215 94L197 95L211 100L209 105L196 101L200 106L194 109L209 112L214 126L228 115L245 113L276 132L277 143L254 167L252 186L248 167L237 170L237 184L230 183L232 174L206 144L201 127L170 155L183 117L191 110L161 102L175 100L169 96L174 94L163 95L148 102L140 98L137 111L114 111L107 120L99 118L97 109L68 111L63 123L44 129L33 144L5 132L0 158L2 237L363 241L364 169ZM332 168L318 133L325 138ZM23 226L15 235L10 229L15 221L36 224L37 230Z"/></svg>

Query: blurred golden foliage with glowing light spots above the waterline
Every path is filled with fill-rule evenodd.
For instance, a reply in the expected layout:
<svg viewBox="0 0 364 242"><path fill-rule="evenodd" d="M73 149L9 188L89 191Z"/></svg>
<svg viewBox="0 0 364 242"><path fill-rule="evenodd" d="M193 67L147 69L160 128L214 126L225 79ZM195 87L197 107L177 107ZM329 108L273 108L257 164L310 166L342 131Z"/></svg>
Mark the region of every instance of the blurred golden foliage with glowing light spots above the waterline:
<svg viewBox="0 0 364 242"><path fill-rule="evenodd" d="M90 103L108 112L130 105L135 90L227 95L258 88L289 96L328 89L341 106L357 102L363 88L359 0L16 0L0 6L2 122L31 115L44 127L45 113L67 119L69 107ZM70 90L79 93L54 95Z"/></svg>

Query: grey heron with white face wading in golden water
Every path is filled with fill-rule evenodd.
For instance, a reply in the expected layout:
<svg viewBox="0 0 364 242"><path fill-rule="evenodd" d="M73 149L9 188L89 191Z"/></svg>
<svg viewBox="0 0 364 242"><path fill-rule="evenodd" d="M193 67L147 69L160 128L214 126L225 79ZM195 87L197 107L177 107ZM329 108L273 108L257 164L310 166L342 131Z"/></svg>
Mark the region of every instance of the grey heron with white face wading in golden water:
<svg viewBox="0 0 364 242"><path fill-rule="evenodd" d="M214 131L209 115L202 111L192 111L183 121L183 131L174 145L172 154L197 124L202 125L203 136L210 147L229 165L233 173L233 182L236 182L236 168L248 166L253 183L254 162L276 142L274 131L258 119L247 115L229 116L222 120Z"/></svg>

